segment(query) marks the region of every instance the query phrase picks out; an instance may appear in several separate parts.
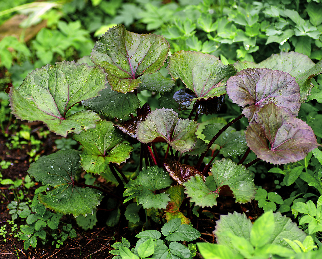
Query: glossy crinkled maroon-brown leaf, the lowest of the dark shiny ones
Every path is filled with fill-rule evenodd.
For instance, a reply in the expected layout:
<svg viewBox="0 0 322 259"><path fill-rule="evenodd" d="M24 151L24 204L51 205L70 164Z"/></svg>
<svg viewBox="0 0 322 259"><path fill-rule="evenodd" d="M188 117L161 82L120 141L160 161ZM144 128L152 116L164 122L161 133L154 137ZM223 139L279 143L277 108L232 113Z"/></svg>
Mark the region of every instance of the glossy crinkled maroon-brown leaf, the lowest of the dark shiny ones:
<svg viewBox="0 0 322 259"><path fill-rule="evenodd" d="M172 179L177 181L178 184L186 182L188 179L190 179L191 176L194 176L196 174L202 175L202 173L194 167L181 164L177 161L166 159L163 161L163 165Z"/></svg>

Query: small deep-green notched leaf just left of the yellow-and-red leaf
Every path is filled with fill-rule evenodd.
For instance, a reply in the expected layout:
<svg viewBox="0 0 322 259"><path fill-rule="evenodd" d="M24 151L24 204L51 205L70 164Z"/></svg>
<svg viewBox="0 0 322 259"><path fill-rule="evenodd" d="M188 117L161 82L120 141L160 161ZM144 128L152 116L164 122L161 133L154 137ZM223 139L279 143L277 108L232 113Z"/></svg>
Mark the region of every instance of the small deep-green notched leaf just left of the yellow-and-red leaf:
<svg viewBox="0 0 322 259"><path fill-rule="evenodd" d="M153 166L143 168L138 177L129 184L138 190L137 203L142 204L144 209L165 209L170 201L169 195L164 192L157 193L157 190L169 187L171 182L171 178L162 168Z"/></svg>

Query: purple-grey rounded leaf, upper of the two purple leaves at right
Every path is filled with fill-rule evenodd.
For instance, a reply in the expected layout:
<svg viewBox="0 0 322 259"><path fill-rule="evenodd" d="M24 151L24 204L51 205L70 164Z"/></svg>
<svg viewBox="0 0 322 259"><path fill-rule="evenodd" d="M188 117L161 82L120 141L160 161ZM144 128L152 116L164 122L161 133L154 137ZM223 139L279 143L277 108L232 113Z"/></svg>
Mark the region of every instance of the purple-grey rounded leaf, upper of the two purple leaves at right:
<svg viewBox="0 0 322 259"><path fill-rule="evenodd" d="M267 68L244 69L228 79L226 89L234 103L242 107L249 104L243 109L243 114L249 121L255 120L256 112L268 102L298 115L298 83L286 72Z"/></svg>

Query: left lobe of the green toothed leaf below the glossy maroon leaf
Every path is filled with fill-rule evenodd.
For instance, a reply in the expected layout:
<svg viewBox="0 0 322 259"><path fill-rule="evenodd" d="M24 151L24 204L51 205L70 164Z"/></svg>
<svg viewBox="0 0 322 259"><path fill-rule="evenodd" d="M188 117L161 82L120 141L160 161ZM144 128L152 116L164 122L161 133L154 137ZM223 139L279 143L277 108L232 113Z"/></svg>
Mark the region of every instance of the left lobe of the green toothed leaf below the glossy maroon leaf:
<svg viewBox="0 0 322 259"><path fill-rule="evenodd" d="M190 180L183 183L185 193L190 201L201 207L212 207L217 205L218 190L211 191L204 183L204 178L199 175L190 177Z"/></svg>

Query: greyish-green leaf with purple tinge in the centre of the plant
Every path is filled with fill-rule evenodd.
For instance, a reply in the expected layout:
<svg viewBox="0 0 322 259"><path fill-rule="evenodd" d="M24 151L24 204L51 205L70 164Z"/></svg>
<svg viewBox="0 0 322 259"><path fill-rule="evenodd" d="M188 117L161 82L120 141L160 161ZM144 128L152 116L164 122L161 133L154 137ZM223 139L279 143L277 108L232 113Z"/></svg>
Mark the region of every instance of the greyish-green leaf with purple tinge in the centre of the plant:
<svg viewBox="0 0 322 259"><path fill-rule="evenodd" d="M172 109L156 109L141 121L136 130L137 139L142 143L167 142L180 152L190 151L195 144L198 123L178 118Z"/></svg>

